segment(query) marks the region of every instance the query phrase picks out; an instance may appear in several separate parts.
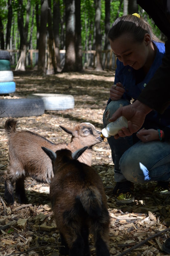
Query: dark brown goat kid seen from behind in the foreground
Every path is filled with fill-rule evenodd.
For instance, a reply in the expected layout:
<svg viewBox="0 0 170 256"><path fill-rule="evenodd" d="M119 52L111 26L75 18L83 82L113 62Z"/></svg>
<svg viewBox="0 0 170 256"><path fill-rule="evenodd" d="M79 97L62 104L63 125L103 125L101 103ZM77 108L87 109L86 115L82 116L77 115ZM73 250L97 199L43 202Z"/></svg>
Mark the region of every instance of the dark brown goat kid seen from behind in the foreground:
<svg viewBox="0 0 170 256"><path fill-rule="evenodd" d="M110 216L103 183L95 169L77 160L86 147L74 153L67 149L55 153L42 149L50 157L54 171L50 199L61 237L59 252L69 256L90 256L90 231L96 255L109 256Z"/></svg>

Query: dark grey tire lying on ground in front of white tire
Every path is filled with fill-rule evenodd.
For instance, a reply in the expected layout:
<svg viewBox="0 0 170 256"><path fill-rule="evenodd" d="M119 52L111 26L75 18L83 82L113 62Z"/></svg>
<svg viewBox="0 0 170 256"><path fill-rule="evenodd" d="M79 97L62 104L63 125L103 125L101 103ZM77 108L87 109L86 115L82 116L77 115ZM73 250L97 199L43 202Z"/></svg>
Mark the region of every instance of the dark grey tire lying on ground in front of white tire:
<svg viewBox="0 0 170 256"><path fill-rule="evenodd" d="M26 117L44 114L44 101L42 99L0 99L1 117Z"/></svg>

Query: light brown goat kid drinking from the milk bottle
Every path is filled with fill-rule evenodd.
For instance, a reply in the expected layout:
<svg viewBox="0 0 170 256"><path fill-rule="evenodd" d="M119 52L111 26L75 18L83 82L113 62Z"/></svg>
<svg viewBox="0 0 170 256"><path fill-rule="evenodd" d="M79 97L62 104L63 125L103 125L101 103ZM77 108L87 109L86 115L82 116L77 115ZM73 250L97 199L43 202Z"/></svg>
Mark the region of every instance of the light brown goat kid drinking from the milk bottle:
<svg viewBox="0 0 170 256"><path fill-rule="evenodd" d="M17 121L8 119L5 122L5 131L8 137L10 163L5 175L4 197L8 204L14 203L13 183L16 182L16 196L19 203L26 202L24 189L25 177L31 176L39 182L51 182L53 175L52 164L42 147L53 151L67 148L76 151L88 146L88 149L80 156L79 161L91 165L92 146L103 139L101 132L97 131L90 123L80 123L74 128L60 126L65 132L72 135L70 143L54 144L44 137L31 131L16 130Z"/></svg>

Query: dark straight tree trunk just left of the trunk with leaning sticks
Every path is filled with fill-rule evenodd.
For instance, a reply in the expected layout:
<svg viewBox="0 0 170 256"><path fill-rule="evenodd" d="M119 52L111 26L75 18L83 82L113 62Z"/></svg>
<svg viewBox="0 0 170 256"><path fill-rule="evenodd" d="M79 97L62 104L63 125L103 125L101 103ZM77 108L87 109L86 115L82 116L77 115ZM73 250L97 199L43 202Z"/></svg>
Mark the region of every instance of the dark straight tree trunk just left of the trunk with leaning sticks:
<svg viewBox="0 0 170 256"><path fill-rule="evenodd" d="M41 1L41 19L40 19L40 34L39 34L39 52L38 52L38 72L46 74L45 67L45 48L46 48L46 31L48 19L48 0Z"/></svg>

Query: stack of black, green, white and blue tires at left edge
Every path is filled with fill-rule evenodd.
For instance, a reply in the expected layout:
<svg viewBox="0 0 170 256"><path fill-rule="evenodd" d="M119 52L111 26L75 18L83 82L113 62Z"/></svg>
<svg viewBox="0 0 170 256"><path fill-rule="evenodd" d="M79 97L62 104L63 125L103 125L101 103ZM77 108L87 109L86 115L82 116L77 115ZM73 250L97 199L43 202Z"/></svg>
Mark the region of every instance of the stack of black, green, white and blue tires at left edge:
<svg viewBox="0 0 170 256"><path fill-rule="evenodd" d="M14 75L10 67L10 53L0 50L0 94L15 92L16 85Z"/></svg>

